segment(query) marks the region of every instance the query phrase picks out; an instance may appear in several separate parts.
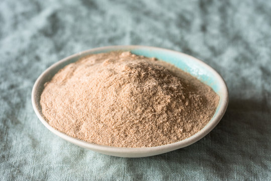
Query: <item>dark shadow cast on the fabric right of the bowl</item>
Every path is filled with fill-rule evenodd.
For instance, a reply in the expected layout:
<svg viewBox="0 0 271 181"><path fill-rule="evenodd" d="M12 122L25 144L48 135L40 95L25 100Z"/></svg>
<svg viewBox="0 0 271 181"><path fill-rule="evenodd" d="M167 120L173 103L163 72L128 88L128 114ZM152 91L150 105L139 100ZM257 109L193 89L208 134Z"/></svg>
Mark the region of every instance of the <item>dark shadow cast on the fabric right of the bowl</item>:
<svg viewBox="0 0 271 181"><path fill-rule="evenodd" d="M254 153L260 146L262 154L265 154L268 160L269 117L270 113L265 102L230 99L228 109L220 123L200 141L175 151L139 159L158 161L163 165L163 169L178 173L182 173L183 169L191 171L209 169L214 170L214 173L232 176L236 170L240 172L243 167L246 171L238 174L254 176L257 173L249 172L248 169L251 162L254 166L268 169L268 162L261 162Z"/></svg>

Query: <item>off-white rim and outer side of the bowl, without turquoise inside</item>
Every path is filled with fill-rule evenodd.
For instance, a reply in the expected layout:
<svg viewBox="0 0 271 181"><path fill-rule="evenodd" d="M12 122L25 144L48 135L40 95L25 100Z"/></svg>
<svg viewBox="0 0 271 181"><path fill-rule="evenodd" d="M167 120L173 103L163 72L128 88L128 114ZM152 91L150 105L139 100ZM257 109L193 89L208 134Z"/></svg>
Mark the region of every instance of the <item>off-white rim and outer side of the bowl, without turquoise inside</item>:
<svg viewBox="0 0 271 181"><path fill-rule="evenodd" d="M137 49L137 48L155 49L155 50L160 50L163 52L169 52L169 53L171 52L171 53L179 54L182 57L187 57L189 59L193 59L194 61L198 62L200 65L204 66L205 68L208 68L208 71L211 71L216 76L216 79L222 85L222 87L221 87L222 92L220 92L220 95L223 95L220 97L221 106L220 106L219 110L217 111L216 115L209 121L209 123L202 130L200 130L199 132L197 132L196 134L194 134L193 136L191 136L185 140L181 140L181 141L178 141L175 143L170 143L170 144L160 145L160 146L155 146L155 147L127 148L127 147L114 147L114 146L99 145L99 144L95 144L95 143L88 143L86 141L82 141L82 140L73 138L71 136L68 136L68 135L54 129L43 118L42 113L38 109L39 102L37 102L36 97L38 94L40 82L46 77L45 75L47 73L49 73L54 67L64 63L65 61L68 61L71 58L75 58L75 57L80 56L85 53L95 53L95 52L102 51L102 50L114 51L112 49L132 50L132 49ZM202 139L211 130L214 129L214 127L219 123L219 121L221 120L221 118L225 114L227 106L228 106L229 96L228 96L227 85L226 85L224 79L222 78L222 76L216 70L214 70L210 65L206 64L202 60L199 60L193 56L187 55L182 52L178 52L178 51L174 51L174 50L170 50L170 49L165 49L165 48L152 47L152 46L142 46L142 45L116 45L116 46L104 46L104 47L84 50L79 53L75 53L73 55L65 57L65 58L57 61L56 63L52 64L45 71L43 71L42 74L40 74L39 77L37 78L37 80L35 81L34 86L32 88L31 100L32 100L33 109L34 109L36 115L38 116L39 120L42 122L42 124L47 129L49 129L51 132L53 132L57 136L65 139L73 144L76 144L78 146L81 146L81 147L84 147L87 149L91 149L94 151L102 152L104 154L121 156L121 157L144 157L144 156L157 155L157 154L165 153L168 151L173 151L175 149L183 148L183 147L191 145L191 144L199 141L200 139Z"/></svg>

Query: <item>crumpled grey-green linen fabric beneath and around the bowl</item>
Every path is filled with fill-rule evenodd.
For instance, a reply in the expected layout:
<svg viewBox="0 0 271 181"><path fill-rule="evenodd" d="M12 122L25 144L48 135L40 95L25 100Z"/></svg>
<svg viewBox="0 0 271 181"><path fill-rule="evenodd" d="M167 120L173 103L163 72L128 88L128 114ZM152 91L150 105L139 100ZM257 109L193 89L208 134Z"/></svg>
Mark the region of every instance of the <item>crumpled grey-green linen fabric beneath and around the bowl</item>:
<svg viewBox="0 0 271 181"><path fill-rule="evenodd" d="M0 180L271 180L270 1L0 2ZM37 77L82 50L147 45L214 67L229 88L217 127L188 147L121 158L42 125Z"/></svg>

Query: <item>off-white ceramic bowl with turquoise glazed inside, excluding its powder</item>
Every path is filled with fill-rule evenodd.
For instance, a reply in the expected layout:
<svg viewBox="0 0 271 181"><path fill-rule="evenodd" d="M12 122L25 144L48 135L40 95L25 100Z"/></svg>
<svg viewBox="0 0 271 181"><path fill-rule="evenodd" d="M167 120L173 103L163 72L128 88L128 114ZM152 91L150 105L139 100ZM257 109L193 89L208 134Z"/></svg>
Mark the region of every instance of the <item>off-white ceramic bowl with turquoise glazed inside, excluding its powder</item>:
<svg viewBox="0 0 271 181"><path fill-rule="evenodd" d="M109 51L131 51L131 53L137 55L143 55L146 57L156 57L163 61L174 64L176 67L189 72L202 82L211 86L213 90L219 95L220 100L216 109L216 112L209 123L198 133L195 135L175 143L155 146L155 147L142 147L142 148L123 148L123 147L113 147L113 146L105 146L99 144L88 143L71 136L68 136L50 126L47 121L44 119L41 111L40 105L40 96L44 89L44 83L51 80L56 72L59 69L63 68L69 63L77 61L79 58L86 56L88 54L94 53L103 53ZM214 127L219 123L221 118L223 117L227 105L228 105L228 89L223 78L209 65L204 63L203 61L194 58L190 55L180 53L177 51L172 51L163 48L157 47L148 47L148 46L137 46L137 45L128 45L128 46L107 46L100 47L95 49L86 50L80 53L76 53L74 55L68 56L53 65L47 68L36 80L33 89L32 89L32 105L37 114L39 120L44 124L46 128L48 128L51 132L56 134L57 136L67 140L75 145L80 147L90 149L93 151L97 151L100 153L104 153L107 155L120 156L120 157L145 157L157 155L165 152L169 152L172 150L176 150L188 145L195 143L196 141L203 138L207 135Z"/></svg>

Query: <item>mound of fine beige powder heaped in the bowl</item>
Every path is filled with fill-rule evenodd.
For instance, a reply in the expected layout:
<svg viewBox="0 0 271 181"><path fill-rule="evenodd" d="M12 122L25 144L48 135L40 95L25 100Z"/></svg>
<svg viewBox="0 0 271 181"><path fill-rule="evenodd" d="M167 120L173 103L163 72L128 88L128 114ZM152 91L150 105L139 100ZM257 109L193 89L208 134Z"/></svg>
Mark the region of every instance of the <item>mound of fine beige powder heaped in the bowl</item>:
<svg viewBox="0 0 271 181"><path fill-rule="evenodd" d="M83 57L44 86L40 104L52 127L116 147L184 140L208 124L219 102L213 89L192 75L130 52Z"/></svg>

